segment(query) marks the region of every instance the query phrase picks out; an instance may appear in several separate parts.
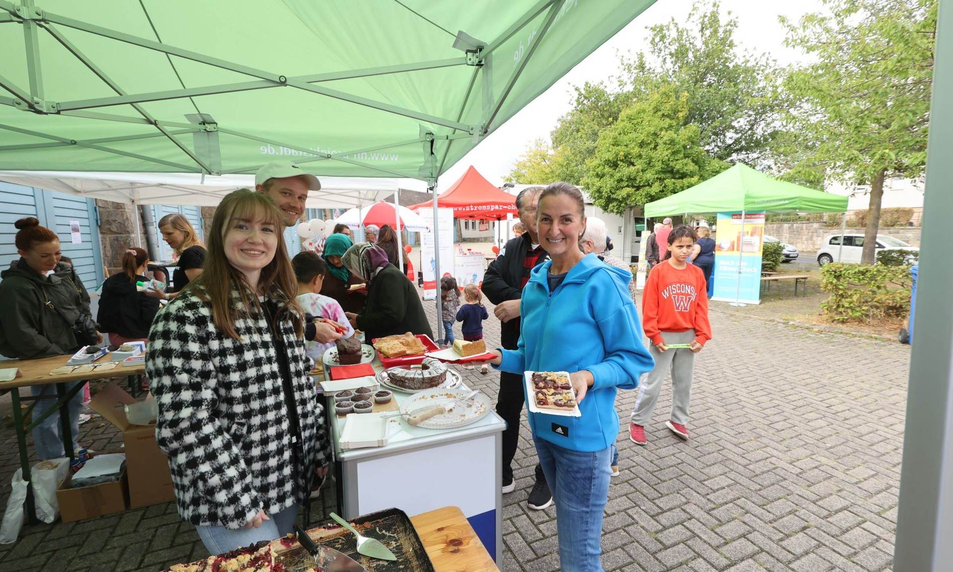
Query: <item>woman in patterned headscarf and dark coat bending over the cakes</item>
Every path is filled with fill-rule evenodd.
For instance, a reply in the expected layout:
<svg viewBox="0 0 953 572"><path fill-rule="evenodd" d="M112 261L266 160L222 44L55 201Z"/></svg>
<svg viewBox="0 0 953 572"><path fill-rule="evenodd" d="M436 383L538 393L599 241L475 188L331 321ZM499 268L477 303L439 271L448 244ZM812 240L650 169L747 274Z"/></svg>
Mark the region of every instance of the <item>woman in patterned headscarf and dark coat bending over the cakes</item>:
<svg viewBox="0 0 953 572"><path fill-rule="evenodd" d="M414 283L388 262L387 253L370 242L358 242L344 253L344 266L367 282L367 305L360 314L345 312L366 339L411 332L434 337Z"/></svg>

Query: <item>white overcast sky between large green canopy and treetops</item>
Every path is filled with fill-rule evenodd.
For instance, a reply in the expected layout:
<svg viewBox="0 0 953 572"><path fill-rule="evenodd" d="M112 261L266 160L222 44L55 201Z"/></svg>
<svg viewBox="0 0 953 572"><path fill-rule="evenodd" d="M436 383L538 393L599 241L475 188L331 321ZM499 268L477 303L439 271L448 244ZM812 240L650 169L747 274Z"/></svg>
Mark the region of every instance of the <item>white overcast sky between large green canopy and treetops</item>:
<svg viewBox="0 0 953 572"><path fill-rule="evenodd" d="M491 133L446 174L441 175L438 191L453 184L470 165L494 185L502 184L503 176L510 173L526 146L537 137L548 139L558 118L570 110L572 86L582 85L586 81L607 80L618 74L618 51L636 53L646 49L646 28L672 18L685 22L691 4L691 0L659 0L642 12L553 87ZM740 47L750 51L765 51L781 65L801 61L803 55L800 51L783 46L784 32L778 23L778 16L784 15L797 22L801 15L821 11L821 8L820 0L721 0L722 14L731 11L738 18L735 38Z"/></svg>

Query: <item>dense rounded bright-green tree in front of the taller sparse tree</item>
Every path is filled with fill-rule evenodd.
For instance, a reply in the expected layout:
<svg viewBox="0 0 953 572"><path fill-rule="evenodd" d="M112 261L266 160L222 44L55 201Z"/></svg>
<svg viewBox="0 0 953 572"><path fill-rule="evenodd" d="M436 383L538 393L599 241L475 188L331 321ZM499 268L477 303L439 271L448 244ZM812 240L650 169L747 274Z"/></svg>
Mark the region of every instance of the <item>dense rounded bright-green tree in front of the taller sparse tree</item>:
<svg viewBox="0 0 953 572"><path fill-rule="evenodd" d="M598 136L582 185L600 209L620 214L633 204L679 193L727 165L700 145L700 129L685 124L688 94L661 88L624 112Z"/></svg>

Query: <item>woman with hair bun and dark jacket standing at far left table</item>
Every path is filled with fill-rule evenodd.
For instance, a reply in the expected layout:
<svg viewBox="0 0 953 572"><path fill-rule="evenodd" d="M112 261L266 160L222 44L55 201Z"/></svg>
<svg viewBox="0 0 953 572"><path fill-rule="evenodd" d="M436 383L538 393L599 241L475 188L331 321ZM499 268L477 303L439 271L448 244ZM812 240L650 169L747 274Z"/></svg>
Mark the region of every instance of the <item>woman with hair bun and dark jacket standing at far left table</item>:
<svg viewBox="0 0 953 572"><path fill-rule="evenodd" d="M90 316L90 295L69 264L60 262L59 237L32 216L15 223L16 252L20 259L0 273L0 354L8 358L50 358L74 354L81 346L102 341ZM67 389L85 381L67 383ZM53 385L34 385L37 399L33 419L55 402ZM77 392L69 411L73 450L79 432L83 392ZM60 419L51 415L33 428L33 444L40 459L63 457Z"/></svg>

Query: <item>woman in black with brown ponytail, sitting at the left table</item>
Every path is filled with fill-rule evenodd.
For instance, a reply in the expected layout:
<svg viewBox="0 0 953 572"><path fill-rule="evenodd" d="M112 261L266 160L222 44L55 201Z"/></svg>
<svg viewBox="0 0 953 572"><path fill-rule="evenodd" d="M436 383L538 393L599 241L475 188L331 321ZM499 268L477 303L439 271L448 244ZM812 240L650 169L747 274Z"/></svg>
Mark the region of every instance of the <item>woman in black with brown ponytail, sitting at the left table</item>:
<svg viewBox="0 0 953 572"><path fill-rule="evenodd" d="M152 318L159 311L159 300L140 292L135 283L146 282L149 253L131 248L122 256L122 274L106 278L99 295L97 321L110 333L112 345L128 341L147 341Z"/></svg>

